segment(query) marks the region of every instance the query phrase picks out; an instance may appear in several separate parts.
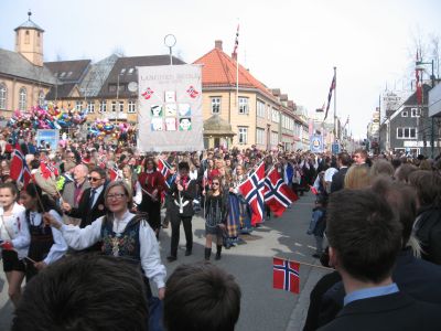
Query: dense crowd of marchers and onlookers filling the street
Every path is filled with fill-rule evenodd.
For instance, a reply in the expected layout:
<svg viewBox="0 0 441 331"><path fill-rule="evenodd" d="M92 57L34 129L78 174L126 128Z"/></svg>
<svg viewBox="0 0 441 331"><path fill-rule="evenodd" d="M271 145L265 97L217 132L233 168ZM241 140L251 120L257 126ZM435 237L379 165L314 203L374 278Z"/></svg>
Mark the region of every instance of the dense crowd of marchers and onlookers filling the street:
<svg viewBox="0 0 441 331"><path fill-rule="evenodd" d="M7 146L19 148L24 154L32 174L28 183L11 177L14 152ZM171 226L166 260L175 261L182 223L185 256L192 255L192 217L201 213L206 234L204 257L201 258L211 260L214 242L215 259L220 259L223 248L236 246L241 235L250 234L271 217L266 207L261 223L251 222L251 209L238 190L261 162L265 162L267 172L276 167L283 182L297 195L302 196L310 190L316 194L308 229L308 234L315 238L313 256L336 271L326 275L311 293L305 330L315 330L327 323L333 325L336 317L338 319L346 310L349 290L355 289L347 284L357 281L374 287L387 282L388 293L396 293L399 288L417 300L441 303L437 291L427 291L424 287L422 293L413 285L408 285L411 282L407 282L408 279L400 282L400 275L405 278L402 275L410 267L405 260L401 265L399 263L404 255L412 268L430 270L430 277L422 271L418 274L427 286L434 281L433 275L440 275L441 159L391 154L369 159L363 149L353 154L332 156L284 151L282 148L258 150L254 146L245 150L216 148L200 152L141 154L131 142L106 143L95 138L67 140L51 149L45 145L39 147L33 139L8 140L8 132L0 136L0 247L9 296L18 308L14 330L32 330L26 329L22 317L33 313L34 319L42 323L85 323L87 319L79 312L72 320L62 318L63 311L57 307L62 296L69 295L68 291L73 290L69 286L84 281L82 273L87 274L93 266L96 265L97 273L99 268L114 268L117 275L125 274L120 264L135 266L140 271L138 279L133 279L138 274L130 273L121 274L121 282L118 280L118 284L123 284L127 279L128 293L141 289L144 299L139 298L133 305L146 306L153 300L150 284L155 285L158 298L163 300L168 330L206 330L208 327L233 330L240 310L240 289L234 279L212 265L202 264L180 266L166 280L158 241L161 228ZM164 217L161 216L162 210ZM388 224L386 218L396 222ZM355 222L357 225L352 227ZM354 234L356 236L351 237ZM400 242L400 249L392 245L394 241ZM326 242L329 247L325 247ZM347 243L352 243L349 247ZM97 253L100 253L99 257ZM121 263L114 264L111 258ZM353 259L357 263L354 264ZM88 267L78 268L79 264ZM46 289L49 285L44 282L73 269L76 271L72 284L53 281L51 285L61 287L60 297L49 298L45 303L33 298ZM106 290L111 287L111 279L104 274L103 278L92 277L89 280ZM24 278L28 285L22 295ZM123 287L121 285L125 291ZM95 290L92 285L90 290ZM214 292L216 290L219 291ZM193 298L194 291L204 292ZM100 296L104 296L99 291L95 295L96 301L92 300L89 306L92 310L98 309L94 305L98 305ZM358 296L352 301L370 298L370 295ZM82 293L78 296L79 300ZM115 298L125 300L119 293L115 293ZM211 307L217 307L217 310L213 308L206 311L206 316L193 311L205 309L204 302L213 300L217 301ZM39 316L32 312L32 307L44 307L56 313ZM109 311L111 309L109 307ZM218 316L220 309L223 314ZM423 306L418 309L424 310L428 317L432 311ZM147 320L149 311L137 307L131 316ZM146 330L149 323L141 324L127 324L130 329L121 327L118 330ZM341 327L343 324L324 328L345 330Z"/></svg>

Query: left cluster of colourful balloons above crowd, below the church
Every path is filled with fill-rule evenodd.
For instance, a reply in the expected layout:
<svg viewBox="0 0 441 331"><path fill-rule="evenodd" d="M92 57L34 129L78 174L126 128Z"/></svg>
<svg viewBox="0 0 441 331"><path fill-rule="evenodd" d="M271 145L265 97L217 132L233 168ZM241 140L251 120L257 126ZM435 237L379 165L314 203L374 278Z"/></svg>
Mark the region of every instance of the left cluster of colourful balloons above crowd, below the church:
<svg viewBox="0 0 441 331"><path fill-rule="evenodd" d="M29 113L15 110L8 126L12 129L65 129L86 121L86 111L65 110L52 104L33 107Z"/></svg>

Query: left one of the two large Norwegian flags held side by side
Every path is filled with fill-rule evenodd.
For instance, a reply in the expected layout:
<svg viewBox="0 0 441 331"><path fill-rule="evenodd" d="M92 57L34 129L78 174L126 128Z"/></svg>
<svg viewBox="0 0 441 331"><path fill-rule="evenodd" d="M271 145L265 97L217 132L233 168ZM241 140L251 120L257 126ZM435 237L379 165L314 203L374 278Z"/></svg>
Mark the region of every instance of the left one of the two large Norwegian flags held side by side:
<svg viewBox="0 0 441 331"><path fill-rule="evenodd" d="M261 162L257 170L238 186L238 190L251 207L251 225L261 223L263 220L263 195L266 191L263 162Z"/></svg>

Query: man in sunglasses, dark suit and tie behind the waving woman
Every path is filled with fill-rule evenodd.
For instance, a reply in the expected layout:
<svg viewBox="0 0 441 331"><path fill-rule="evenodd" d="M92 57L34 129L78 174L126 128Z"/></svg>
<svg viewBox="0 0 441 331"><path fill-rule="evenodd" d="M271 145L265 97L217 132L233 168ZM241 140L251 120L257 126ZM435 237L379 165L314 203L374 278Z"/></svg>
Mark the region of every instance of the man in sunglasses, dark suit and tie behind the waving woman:
<svg viewBox="0 0 441 331"><path fill-rule="evenodd" d="M62 207L67 215L82 218L82 222L79 223L79 227L82 228L106 214L106 204L104 199L106 171L101 168L94 168L90 171L88 181L90 188L84 190L77 207L72 206L67 202L62 204Z"/></svg>

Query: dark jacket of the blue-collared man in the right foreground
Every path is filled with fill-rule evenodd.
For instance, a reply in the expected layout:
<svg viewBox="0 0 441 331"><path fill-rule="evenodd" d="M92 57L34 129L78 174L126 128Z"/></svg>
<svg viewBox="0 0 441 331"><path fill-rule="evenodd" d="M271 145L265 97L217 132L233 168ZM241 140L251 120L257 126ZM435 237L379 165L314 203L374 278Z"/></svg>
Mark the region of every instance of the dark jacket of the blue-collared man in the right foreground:
<svg viewBox="0 0 441 331"><path fill-rule="evenodd" d="M441 306L396 292L346 305L320 331L435 331L441 327Z"/></svg>

